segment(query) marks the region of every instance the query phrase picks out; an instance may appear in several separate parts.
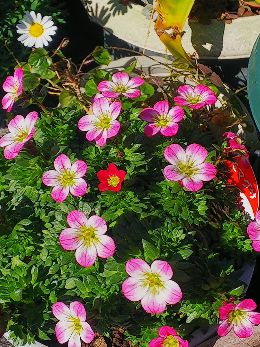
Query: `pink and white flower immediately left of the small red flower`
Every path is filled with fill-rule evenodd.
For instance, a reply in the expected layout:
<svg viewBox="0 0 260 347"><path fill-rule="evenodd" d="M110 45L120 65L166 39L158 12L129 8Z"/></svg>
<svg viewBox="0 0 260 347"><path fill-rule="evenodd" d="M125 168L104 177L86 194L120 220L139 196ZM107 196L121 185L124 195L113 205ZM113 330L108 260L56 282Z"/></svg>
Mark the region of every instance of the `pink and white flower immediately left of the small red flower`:
<svg viewBox="0 0 260 347"><path fill-rule="evenodd" d="M87 192L87 183L82 178L87 171L87 164L82 160L77 160L71 165L69 157L60 154L54 160L55 170L46 171L42 176L43 183L48 187L53 187L51 197L53 200L62 202L69 193L74 196L81 196Z"/></svg>

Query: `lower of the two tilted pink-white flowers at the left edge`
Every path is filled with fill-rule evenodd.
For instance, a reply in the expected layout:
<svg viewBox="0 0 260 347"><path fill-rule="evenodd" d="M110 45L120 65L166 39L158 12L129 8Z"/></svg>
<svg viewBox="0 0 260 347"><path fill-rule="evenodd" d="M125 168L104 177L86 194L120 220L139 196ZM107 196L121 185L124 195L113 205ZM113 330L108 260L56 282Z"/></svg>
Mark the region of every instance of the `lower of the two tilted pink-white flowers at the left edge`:
<svg viewBox="0 0 260 347"><path fill-rule="evenodd" d="M34 125L37 118L38 113L34 111L28 113L25 118L21 115L17 115L10 120L8 124L10 133L4 135L0 139L0 147L6 147L3 151L3 155L6 159L16 158L25 145L25 142L33 137L35 133Z"/></svg>

